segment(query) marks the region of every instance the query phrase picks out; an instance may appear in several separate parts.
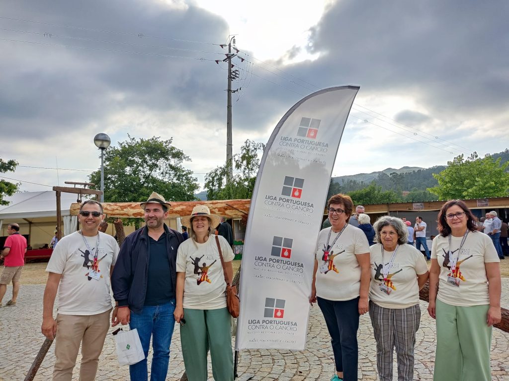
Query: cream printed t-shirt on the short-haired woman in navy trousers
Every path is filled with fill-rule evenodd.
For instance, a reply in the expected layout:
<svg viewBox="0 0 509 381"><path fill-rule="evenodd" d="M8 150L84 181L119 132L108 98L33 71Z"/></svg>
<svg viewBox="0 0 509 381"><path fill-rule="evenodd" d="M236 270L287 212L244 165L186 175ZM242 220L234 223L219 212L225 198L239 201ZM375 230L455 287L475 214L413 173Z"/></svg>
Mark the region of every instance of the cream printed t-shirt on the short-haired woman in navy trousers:
<svg viewBox="0 0 509 381"><path fill-rule="evenodd" d="M317 296L327 300L351 300L360 294L360 266L357 255L369 253L370 246L362 230L347 224L340 238L330 248L327 262L324 262L324 247L331 229L323 229L318 234L315 249L315 258L318 261L315 283ZM329 245L338 234L331 232Z"/></svg>

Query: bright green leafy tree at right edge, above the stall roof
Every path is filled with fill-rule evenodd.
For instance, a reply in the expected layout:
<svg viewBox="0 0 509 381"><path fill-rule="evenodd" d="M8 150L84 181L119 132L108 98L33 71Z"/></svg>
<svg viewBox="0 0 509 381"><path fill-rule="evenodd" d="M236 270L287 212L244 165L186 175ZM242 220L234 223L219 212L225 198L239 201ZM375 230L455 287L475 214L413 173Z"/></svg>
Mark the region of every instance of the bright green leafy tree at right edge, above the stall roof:
<svg viewBox="0 0 509 381"><path fill-rule="evenodd" d="M433 174L438 185L428 190L439 200L505 197L509 190L509 162L500 164L501 157L480 158L477 152L468 158L459 155L447 162L447 168Z"/></svg>

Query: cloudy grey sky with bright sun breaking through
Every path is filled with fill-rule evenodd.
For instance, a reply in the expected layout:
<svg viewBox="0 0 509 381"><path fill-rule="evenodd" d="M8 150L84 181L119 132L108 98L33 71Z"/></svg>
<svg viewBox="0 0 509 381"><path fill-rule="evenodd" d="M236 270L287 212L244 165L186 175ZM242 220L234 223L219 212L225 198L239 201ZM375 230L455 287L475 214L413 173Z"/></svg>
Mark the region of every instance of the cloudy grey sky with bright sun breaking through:
<svg viewBox="0 0 509 381"><path fill-rule="evenodd" d="M87 181L104 132L114 145L173 137L203 184L225 160L227 66L214 60L229 35L234 153L267 142L307 94L344 84L360 91L334 176L509 147L509 3L301 3L3 2L0 157L20 166L0 175L30 191Z"/></svg>

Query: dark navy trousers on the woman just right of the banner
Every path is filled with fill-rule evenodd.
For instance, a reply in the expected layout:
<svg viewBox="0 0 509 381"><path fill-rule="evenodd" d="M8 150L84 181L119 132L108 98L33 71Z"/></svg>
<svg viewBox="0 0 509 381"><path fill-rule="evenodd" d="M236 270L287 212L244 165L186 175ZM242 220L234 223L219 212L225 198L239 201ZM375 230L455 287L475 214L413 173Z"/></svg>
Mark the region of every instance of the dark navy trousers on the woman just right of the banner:
<svg viewBox="0 0 509 381"><path fill-rule="evenodd" d="M357 380L359 348L359 297L336 301L317 298L331 338L336 371L343 372L345 381Z"/></svg>

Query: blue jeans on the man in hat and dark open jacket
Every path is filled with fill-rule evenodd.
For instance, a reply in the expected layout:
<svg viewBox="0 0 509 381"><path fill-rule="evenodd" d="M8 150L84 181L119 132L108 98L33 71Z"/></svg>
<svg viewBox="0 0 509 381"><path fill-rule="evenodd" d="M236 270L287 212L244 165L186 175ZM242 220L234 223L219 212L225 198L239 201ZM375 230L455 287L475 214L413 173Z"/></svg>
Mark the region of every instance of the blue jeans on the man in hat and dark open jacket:
<svg viewBox="0 0 509 381"><path fill-rule="evenodd" d="M131 311L129 327L138 330L139 340L142 342L145 359L134 365L129 365L131 381L147 381L147 356L149 354L150 337L152 336L152 368L151 381L164 381L168 373L169 345L172 342L175 328L175 299L169 303L155 306L144 306L142 313Z"/></svg>

